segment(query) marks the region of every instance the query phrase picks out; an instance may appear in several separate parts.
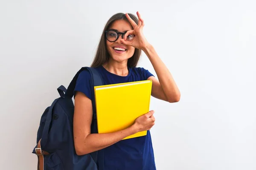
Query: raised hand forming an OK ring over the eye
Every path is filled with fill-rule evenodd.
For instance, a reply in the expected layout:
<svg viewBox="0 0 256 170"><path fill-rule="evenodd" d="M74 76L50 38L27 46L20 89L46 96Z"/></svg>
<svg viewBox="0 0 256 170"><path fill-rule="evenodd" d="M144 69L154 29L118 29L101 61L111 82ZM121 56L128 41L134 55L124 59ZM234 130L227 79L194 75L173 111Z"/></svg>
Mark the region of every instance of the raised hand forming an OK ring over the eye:
<svg viewBox="0 0 256 170"><path fill-rule="evenodd" d="M125 45L131 45L134 48L138 49L145 49L149 43L146 40L145 36L143 35L143 27L144 27L144 21L140 17L140 13L137 11L137 16L139 18L138 25L134 22L134 20L131 19L131 17L128 14L125 14L128 21L131 23L131 26L134 28L133 30L127 31L124 35L124 39L122 39L122 43ZM135 37L132 40L127 40L127 36L129 34L133 34Z"/></svg>

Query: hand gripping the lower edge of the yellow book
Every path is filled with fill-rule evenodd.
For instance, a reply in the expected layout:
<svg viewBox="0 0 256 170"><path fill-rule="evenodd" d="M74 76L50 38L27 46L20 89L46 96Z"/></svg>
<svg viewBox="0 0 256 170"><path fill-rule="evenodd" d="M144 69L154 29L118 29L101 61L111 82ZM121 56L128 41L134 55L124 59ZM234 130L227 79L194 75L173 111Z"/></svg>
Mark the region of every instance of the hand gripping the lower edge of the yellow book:
<svg viewBox="0 0 256 170"><path fill-rule="evenodd" d="M144 130L150 130L151 127L154 126L155 118L153 114L154 111L149 111L148 113L145 113L144 115L138 117L135 120L134 126L139 132Z"/></svg>

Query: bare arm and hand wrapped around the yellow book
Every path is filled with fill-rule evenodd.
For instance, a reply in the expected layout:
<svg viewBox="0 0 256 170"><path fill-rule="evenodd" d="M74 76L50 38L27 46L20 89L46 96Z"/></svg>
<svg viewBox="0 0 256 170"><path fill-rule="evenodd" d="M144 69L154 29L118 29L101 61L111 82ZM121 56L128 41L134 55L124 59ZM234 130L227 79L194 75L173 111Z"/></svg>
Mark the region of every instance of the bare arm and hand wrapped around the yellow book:
<svg viewBox="0 0 256 170"><path fill-rule="evenodd" d="M134 125L113 133L90 133L93 119L91 100L81 92L76 93L73 119L74 144L77 155L84 155L108 147L127 136L143 130L149 130L154 125L153 112L140 116Z"/></svg>

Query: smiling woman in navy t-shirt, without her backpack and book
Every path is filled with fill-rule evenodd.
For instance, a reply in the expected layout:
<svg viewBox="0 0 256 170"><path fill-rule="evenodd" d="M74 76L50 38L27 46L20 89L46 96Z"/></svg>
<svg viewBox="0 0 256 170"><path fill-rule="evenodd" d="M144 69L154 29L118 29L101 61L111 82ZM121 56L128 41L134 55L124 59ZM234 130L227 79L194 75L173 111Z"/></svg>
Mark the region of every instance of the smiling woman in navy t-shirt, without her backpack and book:
<svg viewBox="0 0 256 170"><path fill-rule="evenodd" d="M167 102L178 102L180 92L166 65L143 35L144 21L137 12L115 14L102 33L96 57L91 67L96 68L105 84L152 80L151 95ZM148 70L136 68L141 50L151 61L159 78ZM104 170L155 170L151 135L126 139L134 133L150 130L154 125L154 111L140 116L134 125L113 133L91 134L92 102L90 74L82 71L75 88L74 143L76 153L83 155L101 150L104 153Z"/></svg>

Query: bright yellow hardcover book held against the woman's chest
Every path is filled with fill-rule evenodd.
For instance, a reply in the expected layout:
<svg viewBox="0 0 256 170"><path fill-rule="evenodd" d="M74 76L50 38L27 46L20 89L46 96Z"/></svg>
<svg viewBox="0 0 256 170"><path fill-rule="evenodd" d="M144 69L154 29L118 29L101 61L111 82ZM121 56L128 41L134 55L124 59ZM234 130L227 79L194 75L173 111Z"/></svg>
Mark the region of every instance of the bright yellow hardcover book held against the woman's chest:
<svg viewBox="0 0 256 170"><path fill-rule="evenodd" d="M151 80L95 86L98 133L111 133L133 125L137 117L149 111ZM145 136L142 131L128 136Z"/></svg>

